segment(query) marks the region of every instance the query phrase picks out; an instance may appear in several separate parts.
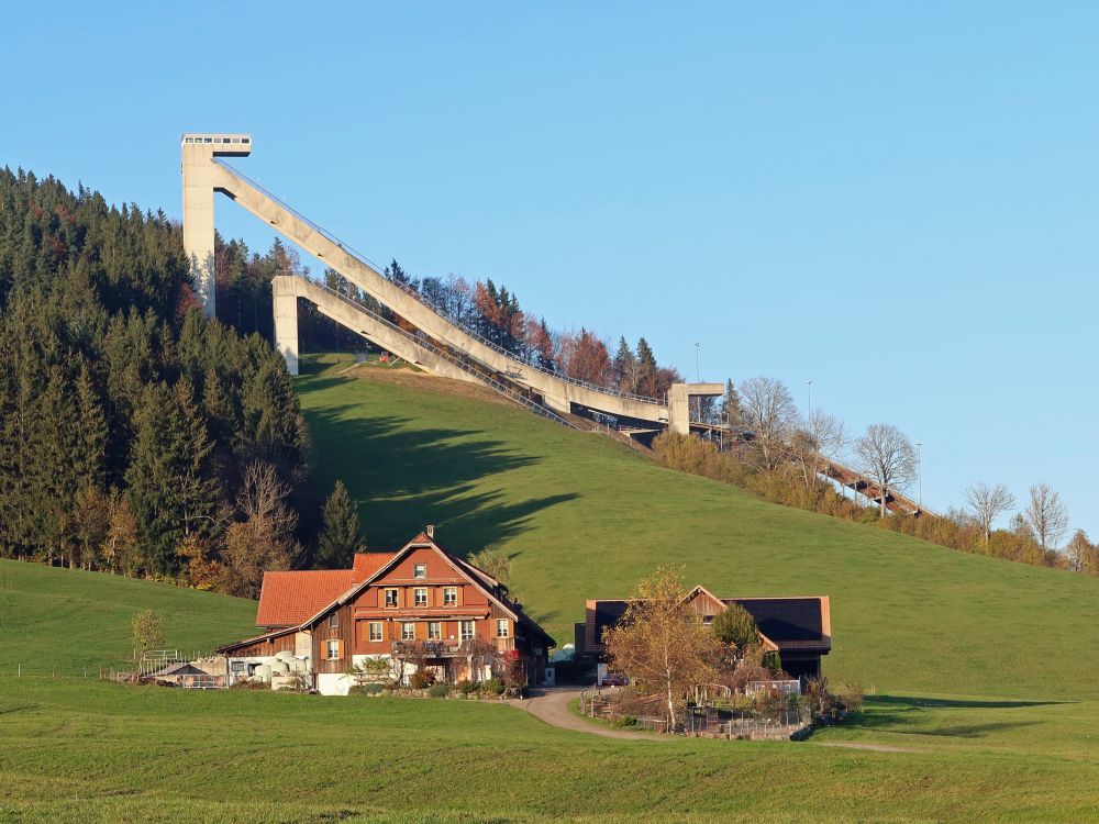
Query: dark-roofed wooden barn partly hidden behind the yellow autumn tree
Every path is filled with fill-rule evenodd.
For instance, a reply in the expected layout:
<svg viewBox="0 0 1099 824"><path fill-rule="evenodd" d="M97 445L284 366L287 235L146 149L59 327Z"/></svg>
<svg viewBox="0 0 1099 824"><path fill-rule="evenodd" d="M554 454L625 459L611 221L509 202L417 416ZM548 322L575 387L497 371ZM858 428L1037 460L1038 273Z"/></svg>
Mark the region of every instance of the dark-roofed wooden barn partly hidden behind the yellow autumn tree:
<svg viewBox="0 0 1099 824"><path fill-rule="evenodd" d="M821 671L821 656L832 649L832 613L828 595L806 598L718 598L704 587L696 587L685 603L703 623L736 603L755 619L759 641L778 653L782 669L793 678L812 678ZM626 606L625 599L587 602L585 622L576 625L576 655L598 664L606 659L603 631L618 623Z"/></svg>

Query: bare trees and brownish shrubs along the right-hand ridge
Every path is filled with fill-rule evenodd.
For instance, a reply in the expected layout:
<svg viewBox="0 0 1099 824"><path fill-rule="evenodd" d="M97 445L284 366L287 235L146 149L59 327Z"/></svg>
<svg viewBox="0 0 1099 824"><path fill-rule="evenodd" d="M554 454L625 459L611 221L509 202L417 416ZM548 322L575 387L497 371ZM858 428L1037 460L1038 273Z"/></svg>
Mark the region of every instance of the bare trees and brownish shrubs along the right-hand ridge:
<svg viewBox="0 0 1099 824"><path fill-rule="evenodd" d="M878 423L852 438L843 423L824 410L802 415L782 381L748 378L735 386L702 417L722 423L731 437L719 443L665 433L653 444L665 466L734 483L776 503L878 525L968 553L1035 566L1099 576L1099 546L1083 530L1069 534L1069 516L1061 495L1045 482L1033 485L1018 511L1004 485L976 483L965 505L943 515L895 512L886 516L889 493L910 488L918 477L918 453L898 427ZM739 433L739 436L737 436ZM842 460L880 490L878 505L854 493L848 499L826 480L825 463ZM1006 527L996 524L1008 517Z"/></svg>

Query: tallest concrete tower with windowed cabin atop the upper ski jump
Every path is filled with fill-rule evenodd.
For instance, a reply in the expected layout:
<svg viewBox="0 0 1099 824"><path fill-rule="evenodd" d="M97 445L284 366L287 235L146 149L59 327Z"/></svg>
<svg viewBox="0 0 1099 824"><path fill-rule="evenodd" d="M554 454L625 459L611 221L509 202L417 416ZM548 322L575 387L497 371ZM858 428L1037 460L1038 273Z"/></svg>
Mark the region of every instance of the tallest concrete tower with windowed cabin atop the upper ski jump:
<svg viewBox="0 0 1099 824"><path fill-rule="evenodd" d="M180 140L184 175L184 252L190 261L195 296L202 313L218 313L213 265L213 194L215 157L247 157L246 134L185 134Z"/></svg>

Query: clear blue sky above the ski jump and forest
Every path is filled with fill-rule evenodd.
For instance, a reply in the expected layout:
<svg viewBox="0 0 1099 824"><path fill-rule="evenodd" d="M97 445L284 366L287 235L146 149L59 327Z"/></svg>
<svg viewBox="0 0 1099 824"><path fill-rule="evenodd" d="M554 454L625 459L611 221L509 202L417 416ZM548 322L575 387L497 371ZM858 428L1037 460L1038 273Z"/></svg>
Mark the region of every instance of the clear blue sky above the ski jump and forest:
<svg viewBox="0 0 1099 824"><path fill-rule="evenodd" d="M373 259L812 380L924 442L929 506L1045 480L1099 537L1099 4L313 7L7 7L0 164L179 216L180 133L251 132Z"/></svg>

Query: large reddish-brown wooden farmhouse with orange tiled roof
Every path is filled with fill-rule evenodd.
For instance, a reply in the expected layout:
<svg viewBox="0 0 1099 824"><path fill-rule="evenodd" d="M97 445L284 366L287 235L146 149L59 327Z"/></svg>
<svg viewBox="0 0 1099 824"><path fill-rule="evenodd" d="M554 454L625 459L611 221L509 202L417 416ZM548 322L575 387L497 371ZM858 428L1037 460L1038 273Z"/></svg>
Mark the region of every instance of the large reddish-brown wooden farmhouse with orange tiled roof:
<svg viewBox="0 0 1099 824"><path fill-rule="evenodd" d="M417 667L436 680L485 680L521 665L542 683L554 642L506 588L434 538L417 535L395 553L359 553L351 569L267 572L256 624L266 632L219 648L230 684L274 688L303 681L347 694L368 659L386 660L395 680Z"/></svg>

